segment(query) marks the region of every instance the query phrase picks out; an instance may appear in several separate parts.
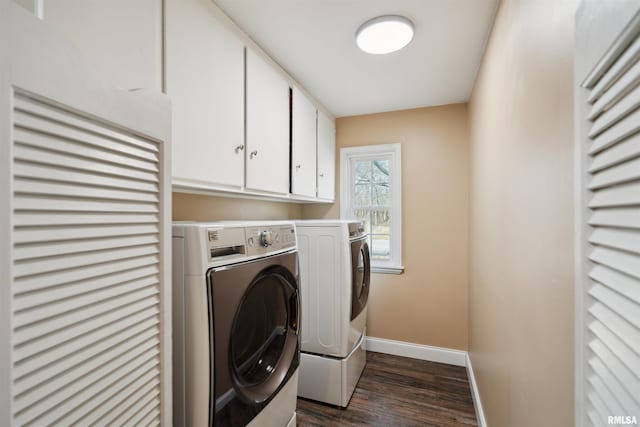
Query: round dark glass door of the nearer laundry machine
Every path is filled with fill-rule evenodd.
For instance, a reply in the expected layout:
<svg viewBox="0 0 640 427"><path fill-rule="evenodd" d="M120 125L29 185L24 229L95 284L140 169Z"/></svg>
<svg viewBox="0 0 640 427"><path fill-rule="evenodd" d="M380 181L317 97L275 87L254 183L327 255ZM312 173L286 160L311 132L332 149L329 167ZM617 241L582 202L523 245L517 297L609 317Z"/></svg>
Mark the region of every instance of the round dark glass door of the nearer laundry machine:
<svg viewBox="0 0 640 427"><path fill-rule="evenodd" d="M298 297L295 279L288 276L281 267L262 271L245 292L233 321L233 379L256 402L280 385L290 364L285 359L293 357L297 346Z"/></svg>

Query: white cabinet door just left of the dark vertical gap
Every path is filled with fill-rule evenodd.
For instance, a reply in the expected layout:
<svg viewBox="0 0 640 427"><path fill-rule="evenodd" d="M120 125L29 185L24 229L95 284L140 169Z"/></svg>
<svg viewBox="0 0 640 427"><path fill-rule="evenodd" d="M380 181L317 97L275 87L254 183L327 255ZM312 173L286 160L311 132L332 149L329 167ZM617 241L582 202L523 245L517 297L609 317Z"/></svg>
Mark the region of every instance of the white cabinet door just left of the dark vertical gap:
<svg viewBox="0 0 640 427"><path fill-rule="evenodd" d="M247 49L246 187L289 192L289 83Z"/></svg>

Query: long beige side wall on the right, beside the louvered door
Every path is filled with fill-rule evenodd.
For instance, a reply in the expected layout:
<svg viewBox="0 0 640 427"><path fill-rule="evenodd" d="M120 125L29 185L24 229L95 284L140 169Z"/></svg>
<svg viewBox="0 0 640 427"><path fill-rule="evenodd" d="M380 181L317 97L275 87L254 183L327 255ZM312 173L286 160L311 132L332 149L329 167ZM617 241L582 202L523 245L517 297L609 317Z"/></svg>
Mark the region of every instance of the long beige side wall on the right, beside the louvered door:
<svg viewBox="0 0 640 427"><path fill-rule="evenodd" d="M573 0L503 0L469 103L470 355L488 425L573 425Z"/></svg>

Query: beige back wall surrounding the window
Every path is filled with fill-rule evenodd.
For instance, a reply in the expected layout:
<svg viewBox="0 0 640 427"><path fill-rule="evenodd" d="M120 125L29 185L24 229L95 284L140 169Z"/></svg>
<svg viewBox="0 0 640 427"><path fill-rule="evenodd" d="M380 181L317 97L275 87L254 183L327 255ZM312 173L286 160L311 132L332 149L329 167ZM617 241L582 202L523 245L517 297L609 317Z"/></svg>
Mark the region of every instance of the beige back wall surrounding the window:
<svg viewBox="0 0 640 427"><path fill-rule="evenodd" d="M340 118L336 139L338 158L341 147L402 144L405 272L373 274L367 335L467 349L466 104ZM340 207L303 205L302 214L338 218Z"/></svg>

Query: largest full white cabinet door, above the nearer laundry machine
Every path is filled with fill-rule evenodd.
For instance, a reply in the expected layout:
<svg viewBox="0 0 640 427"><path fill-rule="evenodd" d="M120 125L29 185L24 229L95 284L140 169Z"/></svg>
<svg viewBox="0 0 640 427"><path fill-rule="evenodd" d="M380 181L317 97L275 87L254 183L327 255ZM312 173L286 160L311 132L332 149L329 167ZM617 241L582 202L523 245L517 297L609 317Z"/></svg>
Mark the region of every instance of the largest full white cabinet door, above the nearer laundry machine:
<svg viewBox="0 0 640 427"><path fill-rule="evenodd" d="M173 184L244 184L244 44L211 0L166 1Z"/></svg>

